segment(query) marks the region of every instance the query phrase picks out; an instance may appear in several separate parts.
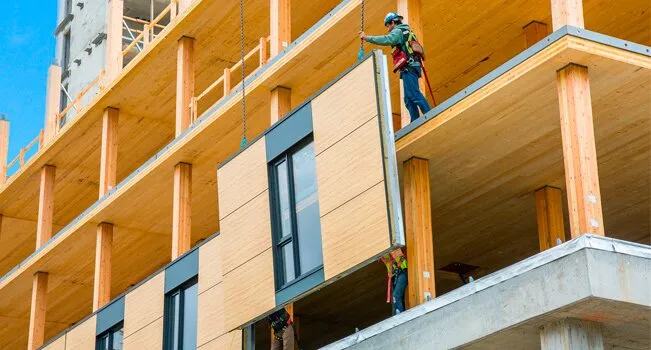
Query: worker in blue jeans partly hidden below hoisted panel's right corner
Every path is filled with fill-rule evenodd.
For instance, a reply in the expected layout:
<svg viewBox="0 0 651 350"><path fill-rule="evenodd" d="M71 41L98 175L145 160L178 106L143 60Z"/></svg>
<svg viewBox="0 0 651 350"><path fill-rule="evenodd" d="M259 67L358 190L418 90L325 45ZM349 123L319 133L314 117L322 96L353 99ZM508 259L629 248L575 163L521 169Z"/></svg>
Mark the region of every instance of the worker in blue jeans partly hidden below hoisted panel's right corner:
<svg viewBox="0 0 651 350"><path fill-rule="evenodd" d="M387 303L393 299L393 314L405 311L405 289L407 288L407 258L398 248L380 258L387 267ZM391 290L393 289L393 293Z"/></svg>

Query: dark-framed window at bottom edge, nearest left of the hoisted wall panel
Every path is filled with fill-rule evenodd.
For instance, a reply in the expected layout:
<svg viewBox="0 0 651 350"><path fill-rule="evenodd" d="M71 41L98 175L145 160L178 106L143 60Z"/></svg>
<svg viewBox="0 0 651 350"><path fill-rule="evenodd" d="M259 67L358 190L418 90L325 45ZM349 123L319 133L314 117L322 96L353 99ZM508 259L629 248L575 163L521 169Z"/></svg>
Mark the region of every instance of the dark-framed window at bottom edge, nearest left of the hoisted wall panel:
<svg viewBox="0 0 651 350"><path fill-rule="evenodd" d="M197 347L197 278L194 277L165 296L163 349L188 350Z"/></svg>

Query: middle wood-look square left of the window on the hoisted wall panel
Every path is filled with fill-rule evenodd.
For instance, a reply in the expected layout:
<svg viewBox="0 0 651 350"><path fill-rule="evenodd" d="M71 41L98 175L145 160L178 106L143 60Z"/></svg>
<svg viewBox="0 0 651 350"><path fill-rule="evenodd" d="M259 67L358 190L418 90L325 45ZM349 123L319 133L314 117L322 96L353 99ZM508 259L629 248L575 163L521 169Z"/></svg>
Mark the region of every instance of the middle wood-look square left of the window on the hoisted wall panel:
<svg viewBox="0 0 651 350"><path fill-rule="evenodd" d="M264 191L221 221L223 272L229 273L271 248L269 192Z"/></svg>

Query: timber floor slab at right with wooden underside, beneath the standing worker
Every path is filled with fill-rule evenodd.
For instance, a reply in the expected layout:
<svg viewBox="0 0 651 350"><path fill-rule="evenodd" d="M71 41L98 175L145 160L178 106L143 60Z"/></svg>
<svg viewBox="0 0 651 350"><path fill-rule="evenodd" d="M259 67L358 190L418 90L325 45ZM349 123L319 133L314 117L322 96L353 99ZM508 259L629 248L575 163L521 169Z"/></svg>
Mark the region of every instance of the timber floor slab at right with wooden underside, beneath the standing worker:
<svg viewBox="0 0 651 350"><path fill-rule="evenodd" d="M566 36L398 139L399 162L430 160L436 268L538 252L534 192L565 188L555 72L570 62L590 74L606 235L651 243L651 58Z"/></svg>

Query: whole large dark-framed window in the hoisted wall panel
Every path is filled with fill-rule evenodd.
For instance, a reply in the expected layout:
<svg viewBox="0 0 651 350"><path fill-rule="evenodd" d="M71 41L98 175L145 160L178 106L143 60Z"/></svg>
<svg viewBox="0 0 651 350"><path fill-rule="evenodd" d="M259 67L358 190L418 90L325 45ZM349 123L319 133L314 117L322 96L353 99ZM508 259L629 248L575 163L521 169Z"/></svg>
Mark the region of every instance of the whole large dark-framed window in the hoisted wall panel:
<svg viewBox="0 0 651 350"><path fill-rule="evenodd" d="M314 142L311 136L269 165L276 287L323 266Z"/></svg>

